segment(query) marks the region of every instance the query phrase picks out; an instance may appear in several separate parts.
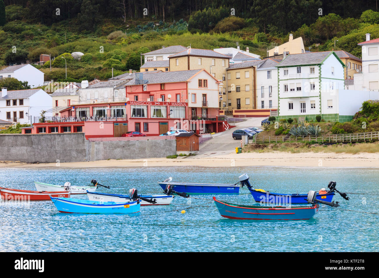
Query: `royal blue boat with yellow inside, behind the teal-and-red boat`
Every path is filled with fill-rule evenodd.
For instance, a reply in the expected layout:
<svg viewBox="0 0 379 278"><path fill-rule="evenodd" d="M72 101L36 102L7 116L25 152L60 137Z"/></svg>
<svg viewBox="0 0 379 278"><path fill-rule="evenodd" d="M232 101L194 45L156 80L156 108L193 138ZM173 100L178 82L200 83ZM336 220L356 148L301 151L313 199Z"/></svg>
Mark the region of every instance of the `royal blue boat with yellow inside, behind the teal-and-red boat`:
<svg viewBox="0 0 379 278"><path fill-rule="evenodd" d="M249 177L247 174L243 174L238 178L241 182L241 186L247 186L251 195L253 196L255 202L269 204L269 205L281 205L281 204L300 204L307 203L307 195L308 194L284 194L284 193L271 193L269 191L265 191L263 189L255 189L252 188ZM338 192L343 198L349 200L349 197L346 196L346 193L341 193L337 189L335 189L336 182L329 182L328 188L326 191L325 188L322 188L317 194L317 198L326 202L331 202L334 192Z"/></svg>

